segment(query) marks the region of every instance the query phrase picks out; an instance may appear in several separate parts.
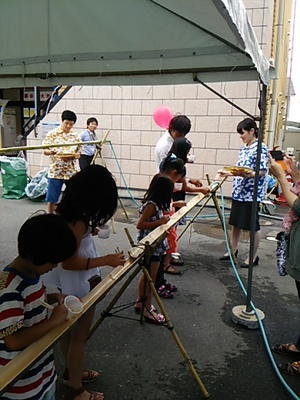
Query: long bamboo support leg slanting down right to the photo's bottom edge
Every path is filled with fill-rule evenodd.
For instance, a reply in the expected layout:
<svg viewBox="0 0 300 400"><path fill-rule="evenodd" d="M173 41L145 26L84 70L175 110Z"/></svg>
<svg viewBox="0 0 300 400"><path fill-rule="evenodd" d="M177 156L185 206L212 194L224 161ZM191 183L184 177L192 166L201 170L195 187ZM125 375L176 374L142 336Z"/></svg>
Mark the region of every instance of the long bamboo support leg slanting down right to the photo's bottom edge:
<svg viewBox="0 0 300 400"><path fill-rule="evenodd" d="M172 334L172 336L173 336L173 339L174 339L174 341L175 341L177 347L179 348L179 350L180 350L180 352L181 352L181 354L182 354L182 356L183 356L183 358L184 358L184 361L187 363L187 365L188 365L188 367L189 367L189 369L190 369L190 371L191 371L193 377L196 379L196 382L198 383L198 385L199 385L199 387L200 387L200 389L201 389L203 395L204 395L206 398L208 398L208 397L209 397L209 393L208 393L208 391L206 390L206 388L205 388L203 382L201 381L199 375L197 374L197 371L196 371L195 367L193 366L193 363L191 362L191 359L190 359L190 357L188 356L188 354L187 354L185 348L183 347L183 345L182 345L182 343L181 343L181 341L180 341L180 339L179 339L177 333L175 332L175 328L174 328L174 326L172 325L172 323L171 323L171 321L170 321L170 318L169 318L169 316L168 316L168 314L167 314L167 311L166 311L166 309L165 309L165 307L164 307L162 301L160 300L160 297L159 297L159 295L158 295L158 293L157 293L157 291L156 291L156 289L155 289L153 280L151 279L151 276L150 276L150 274L149 274L149 272L148 272L148 269L147 269L145 266L143 266L143 265L142 265L142 269L143 269L143 272L144 272L144 274L145 274L146 279L148 280L148 282L149 282L149 284L150 284L150 286L151 286L151 291L152 291L152 293L153 293L153 296L155 297L155 300L157 301L157 304L158 304L158 306L159 306L159 308L160 308L160 310L161 310L163 316L165 317L165 320L166 320L166 324L167 324L167 326L168 326L168 329L169 329L169 331L171 332L171 334Z"/></svg>

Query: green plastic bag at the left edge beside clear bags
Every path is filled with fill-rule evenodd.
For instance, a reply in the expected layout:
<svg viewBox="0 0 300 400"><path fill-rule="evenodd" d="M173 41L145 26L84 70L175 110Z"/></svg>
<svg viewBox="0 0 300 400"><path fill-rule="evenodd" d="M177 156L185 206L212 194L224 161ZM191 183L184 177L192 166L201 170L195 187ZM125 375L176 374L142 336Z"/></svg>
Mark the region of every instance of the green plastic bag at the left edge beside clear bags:
<svg viewBox="0 0 300 400"><path fill-rule="evenodd" d="M5 199L21 199L27 185L27 163L22 157L0 157Z"/></svg>

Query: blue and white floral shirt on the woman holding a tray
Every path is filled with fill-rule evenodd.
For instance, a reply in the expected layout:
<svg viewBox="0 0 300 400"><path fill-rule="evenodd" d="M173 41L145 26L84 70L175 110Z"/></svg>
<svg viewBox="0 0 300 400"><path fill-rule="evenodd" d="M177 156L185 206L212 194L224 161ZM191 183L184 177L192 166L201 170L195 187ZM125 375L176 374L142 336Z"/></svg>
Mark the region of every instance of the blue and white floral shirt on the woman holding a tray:
<svg viewBox="0 0 300 400"><path fill-rule="evenodd" d="M249 167L255 171L257 143L255 140L250 146L245 145L240 149L237 165L239 167ZM260 170L268 171L268 148L262 143L260 156ZM258 180L257 201L262 201L265 196L267 174ZM254 193L254 178L243 178L235 176L233 178L232 198L236 201L252 201Z"/></svg>

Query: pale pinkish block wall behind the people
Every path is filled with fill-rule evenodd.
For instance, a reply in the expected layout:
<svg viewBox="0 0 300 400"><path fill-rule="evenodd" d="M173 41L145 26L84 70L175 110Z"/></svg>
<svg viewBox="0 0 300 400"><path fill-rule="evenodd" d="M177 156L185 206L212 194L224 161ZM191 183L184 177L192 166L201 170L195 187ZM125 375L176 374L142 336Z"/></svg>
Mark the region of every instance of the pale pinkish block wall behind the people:
<svg viewBox="0 0 300 400"><path fill-rule="evenodd" d="M268 52L267 26L269 9L261 0L246 0L248 13L258 40ZM259 86L257 82L219 82L210 86L252 115L258 115ZM103 156L107 167L116 177L117 185L124 188L124 180L131 189L144 191L156 173L154 148L164 133L153 120L153 111L159 105L171 108L173 114L185 114L192 122L188 139L192 142L194 164L187 165L189 177L206 181L206 174L214 179L219 168L235 165L242 142L236 133L237 123L245 115L220 99L200 84L170 86L74 86L43 122L60 122L61 112L70 109L77 114L77 132L86 127L86 119L95 116L99 121L98 138L110 130ZM29 137L28 144L41 144L42 127L38 136ZM38 153L38 154L37 154ZM28 152L30 174L44 165L47 157L41 151ZM119 171L118 165L121 168ZM232 182L223 185L224 194L230 196Z"/></svg>

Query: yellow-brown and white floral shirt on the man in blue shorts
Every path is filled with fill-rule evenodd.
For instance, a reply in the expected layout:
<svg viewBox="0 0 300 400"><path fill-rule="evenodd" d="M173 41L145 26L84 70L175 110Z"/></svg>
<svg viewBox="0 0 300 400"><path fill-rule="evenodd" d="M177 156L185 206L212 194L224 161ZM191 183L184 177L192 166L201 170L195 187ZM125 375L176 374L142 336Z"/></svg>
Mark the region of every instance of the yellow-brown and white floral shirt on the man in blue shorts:
<svg viewBox="0 0 300 400"><path fill-rule="evenodd" d="M64 133L61 127L53 129L45 137L43 144L65 144L80 142L80 137L72 130L69 133ZM76 172L79 171L77 159L66 156L74 153L79 153L79 147L76 146L62 146L55 147L57 153L50 156L50 167L48 178L52 179L70 179ZM65 155L65 157L64 157Z"/></svg>

